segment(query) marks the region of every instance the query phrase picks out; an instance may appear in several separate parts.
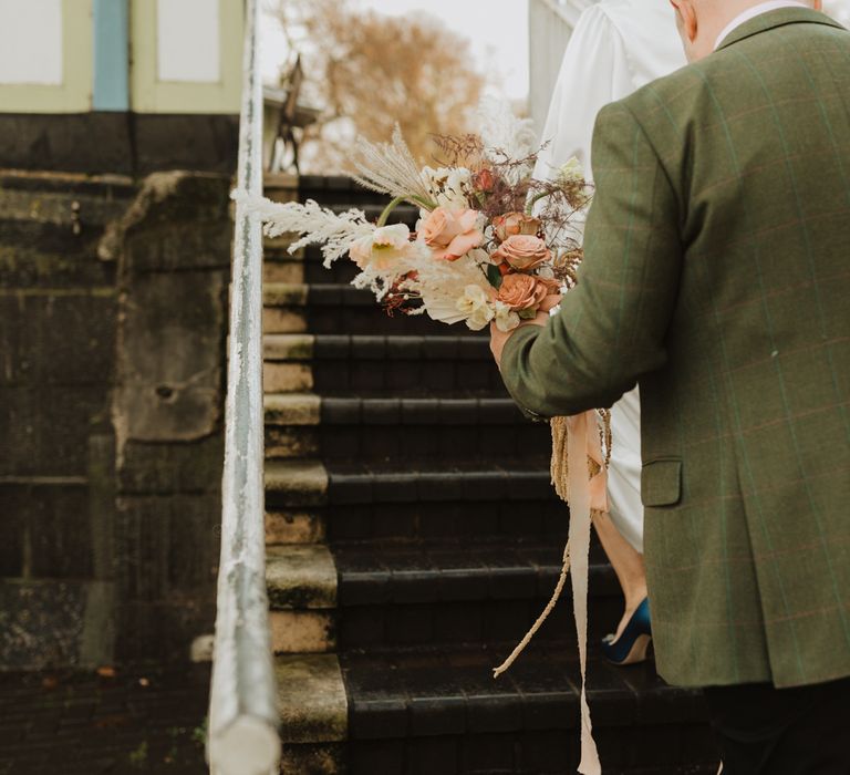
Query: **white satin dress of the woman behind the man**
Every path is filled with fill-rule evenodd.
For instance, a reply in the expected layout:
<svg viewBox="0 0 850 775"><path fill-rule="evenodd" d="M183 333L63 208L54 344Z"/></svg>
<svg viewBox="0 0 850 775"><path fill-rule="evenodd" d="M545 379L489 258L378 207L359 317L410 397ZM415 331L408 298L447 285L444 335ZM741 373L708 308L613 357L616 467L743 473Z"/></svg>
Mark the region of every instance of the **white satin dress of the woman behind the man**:
<svg viewBox="0 0 850 775"><path fill-rule="evenodd" d="M609 102L686 64L667 0L602 0L581 14L563 56L549 106L537 178L552 177L577 156L590 177L597 113ZM643 551L641 415L638 389L611 412L613 446L608 477L611 519Z"/></svg>

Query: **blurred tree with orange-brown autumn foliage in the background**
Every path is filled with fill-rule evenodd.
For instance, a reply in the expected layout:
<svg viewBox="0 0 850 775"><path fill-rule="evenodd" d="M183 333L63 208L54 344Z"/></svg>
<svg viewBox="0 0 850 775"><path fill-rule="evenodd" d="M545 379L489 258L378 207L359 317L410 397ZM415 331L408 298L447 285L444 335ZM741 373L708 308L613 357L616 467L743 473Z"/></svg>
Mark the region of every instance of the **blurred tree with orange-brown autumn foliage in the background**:
<svg viewBox="0 0 850 775"><path fill-rule="evenodd" d="M308 172L349 172L357 136L384 141L401 125L417 162L432 158L431 134L475 125L484 76L469 41L427 14L357 10L352 0L277 0L277 16L300 51L303 101L323 111L302 144Z"/></svg>

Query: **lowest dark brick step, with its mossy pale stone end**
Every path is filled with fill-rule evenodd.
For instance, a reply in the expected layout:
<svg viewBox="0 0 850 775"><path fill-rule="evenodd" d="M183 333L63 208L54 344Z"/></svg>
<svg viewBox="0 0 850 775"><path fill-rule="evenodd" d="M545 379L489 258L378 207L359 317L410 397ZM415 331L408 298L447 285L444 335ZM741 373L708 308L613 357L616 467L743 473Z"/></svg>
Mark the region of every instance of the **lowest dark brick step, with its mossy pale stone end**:
<svg viewBox="0 0 850 775"><path fill-rule="evenodd" d="M342 711L334 709L334 716L326 694L318 691L323 685L320 680L300 679L309 673L303 662L293 671L282 662L279 676L293 676L281 690L284 715L289 712L301 722L283 726L287 757L315 761L325 750L331 758L334 754L344 758L350 775L576 772L579 670L574 649L532 644L506 675L494 680L491 669L501 657L465 648L344 653L341 671L334 665L324 672L333 686L344 688L345 730L340 728ZM701 694L667 686L651 663L612 668L592 651L588 700L603 772L717 772ZM313 716L317 723L311 730Z"/></svg>

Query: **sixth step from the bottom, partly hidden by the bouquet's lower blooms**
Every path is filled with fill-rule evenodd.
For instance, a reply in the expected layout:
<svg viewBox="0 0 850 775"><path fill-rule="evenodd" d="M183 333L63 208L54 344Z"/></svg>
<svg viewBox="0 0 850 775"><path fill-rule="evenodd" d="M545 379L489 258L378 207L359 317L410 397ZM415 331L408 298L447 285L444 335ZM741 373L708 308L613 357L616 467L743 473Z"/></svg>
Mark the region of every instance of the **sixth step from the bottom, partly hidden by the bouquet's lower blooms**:
<svg viewBox="0 0 850 775"><path fill-rule="evenodd" d="M367 290L349 285L267 282L262 328L266 333L471 334L427 314L390 316ZM485 335L485 334L478 334Z"/></svg>

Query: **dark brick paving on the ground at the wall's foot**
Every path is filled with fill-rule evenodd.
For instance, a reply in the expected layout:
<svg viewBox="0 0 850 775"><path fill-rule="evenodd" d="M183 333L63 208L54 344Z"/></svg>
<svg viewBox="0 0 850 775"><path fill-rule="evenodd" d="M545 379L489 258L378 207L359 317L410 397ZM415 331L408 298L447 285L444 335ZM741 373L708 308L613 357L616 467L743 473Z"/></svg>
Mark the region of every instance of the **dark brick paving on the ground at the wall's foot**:
<svg viewBox="0 0 850 775"><path fill-rule="evenodd" d="M0 675L0 775L203 775L207 666Z"/></svg>

